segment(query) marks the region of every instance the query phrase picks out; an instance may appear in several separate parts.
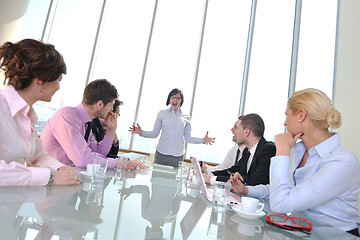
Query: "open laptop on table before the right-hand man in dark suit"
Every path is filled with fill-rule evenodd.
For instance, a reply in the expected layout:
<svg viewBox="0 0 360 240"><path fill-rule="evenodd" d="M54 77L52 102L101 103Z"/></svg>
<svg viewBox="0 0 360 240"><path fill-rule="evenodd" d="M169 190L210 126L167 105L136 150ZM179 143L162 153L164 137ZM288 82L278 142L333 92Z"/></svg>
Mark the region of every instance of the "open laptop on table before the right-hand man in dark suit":
<svg viewBox="0 0 360 240"><path fill-rule="evenodd" d="M200 191L204 194L204 196L206 197L207 200L212 202L213 201L213 191L212 191L212 189L206 188L206 183L204 180L204 176L201 172L199 161L195 157L190 157L190 160L193 165L194 173L195 173L197 182L199 184ZM233 205L233 204L239 204L240 202L241 202L240 196L238 196L235 193L230 192L228 204Z"/></svg>

